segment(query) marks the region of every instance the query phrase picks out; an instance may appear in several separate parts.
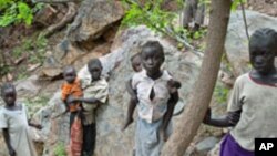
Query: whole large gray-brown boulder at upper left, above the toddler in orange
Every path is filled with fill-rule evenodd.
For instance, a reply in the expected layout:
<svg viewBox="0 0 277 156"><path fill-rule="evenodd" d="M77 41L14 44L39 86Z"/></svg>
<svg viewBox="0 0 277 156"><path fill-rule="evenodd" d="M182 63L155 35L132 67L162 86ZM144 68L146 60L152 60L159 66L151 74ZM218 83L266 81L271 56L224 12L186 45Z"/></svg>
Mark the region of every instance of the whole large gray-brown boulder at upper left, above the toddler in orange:
<svg viewBox="0 0 277 156"><path fill-rule="evenodd" d="M120 1L82 1L64 40L58 43L49 54L40 76L61 77L62 69L65 65L71 64L81 69L88 58L109 53L123 15L124 10Z"/></svg>

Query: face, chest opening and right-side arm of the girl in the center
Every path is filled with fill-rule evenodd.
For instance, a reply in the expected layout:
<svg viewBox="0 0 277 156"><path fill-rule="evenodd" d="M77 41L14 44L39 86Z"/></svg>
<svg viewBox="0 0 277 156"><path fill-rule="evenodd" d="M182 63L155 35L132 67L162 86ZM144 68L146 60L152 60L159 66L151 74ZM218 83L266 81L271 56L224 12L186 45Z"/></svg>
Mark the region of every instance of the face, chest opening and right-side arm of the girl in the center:
<svg viewBox="0 0 277 156"><path fill-rule="evenodd" d="M143 67L146 71L146 74L148 77L152 80L157 80L162 76L163 72L161 71L161 65L164 62L164 53L163 51L160 51L155 48L152 46L146 46L142 50L142 64ZM178 91L176 90L175 92L170 91L170 100L167 102L167 111L163 117L163 123L162 126L160 127L160 137L163 141L167 141L167 135L166 135L166 129L168 126L168 123L172 118L172 114L175 107L175 104L178 101ZM150 98L153 100L155 96L155 92L152 89Z"/></svg>

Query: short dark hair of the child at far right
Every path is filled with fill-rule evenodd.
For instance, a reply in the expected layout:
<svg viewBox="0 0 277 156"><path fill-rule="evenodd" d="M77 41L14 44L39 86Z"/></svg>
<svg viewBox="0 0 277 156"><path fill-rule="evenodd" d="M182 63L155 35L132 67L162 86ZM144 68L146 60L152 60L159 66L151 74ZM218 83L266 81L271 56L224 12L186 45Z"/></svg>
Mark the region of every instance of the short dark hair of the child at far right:
<svg viewBox="0 0 277 156"><path fill-rule="evenodd" d="M270 28L261 28L256 30L249 40L249 50L259 44L260 41L266 40L268 42L269 49L277 53L277 32Z"/></svg>

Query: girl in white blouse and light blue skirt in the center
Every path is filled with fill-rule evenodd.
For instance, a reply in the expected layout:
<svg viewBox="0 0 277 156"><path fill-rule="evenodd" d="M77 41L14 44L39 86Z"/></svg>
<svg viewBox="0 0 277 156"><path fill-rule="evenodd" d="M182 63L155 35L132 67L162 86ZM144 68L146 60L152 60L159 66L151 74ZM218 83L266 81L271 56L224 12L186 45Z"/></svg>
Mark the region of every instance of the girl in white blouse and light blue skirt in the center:
<svg viewBox="0 0 277 156"><path fill-rule="evenodd" d="M138 100L135 155L158 156L172 128L171 118L178 92L168 90L172 76L161 70L164 51L157 41L145 43L141 58L144 70L132 77L132 89Z"/></svg>

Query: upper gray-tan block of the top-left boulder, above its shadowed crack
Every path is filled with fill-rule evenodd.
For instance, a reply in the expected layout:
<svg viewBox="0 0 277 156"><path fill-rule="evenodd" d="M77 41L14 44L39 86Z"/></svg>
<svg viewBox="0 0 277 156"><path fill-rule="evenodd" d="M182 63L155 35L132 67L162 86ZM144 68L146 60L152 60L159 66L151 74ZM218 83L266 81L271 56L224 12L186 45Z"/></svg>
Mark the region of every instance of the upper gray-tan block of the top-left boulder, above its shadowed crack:
<svg viewBox="0 0 277 156"><path fill-rule="evenodd" d="M69 29L69 38L72 42L95 40L123 15L119 1L84 0Z"/></svg>

